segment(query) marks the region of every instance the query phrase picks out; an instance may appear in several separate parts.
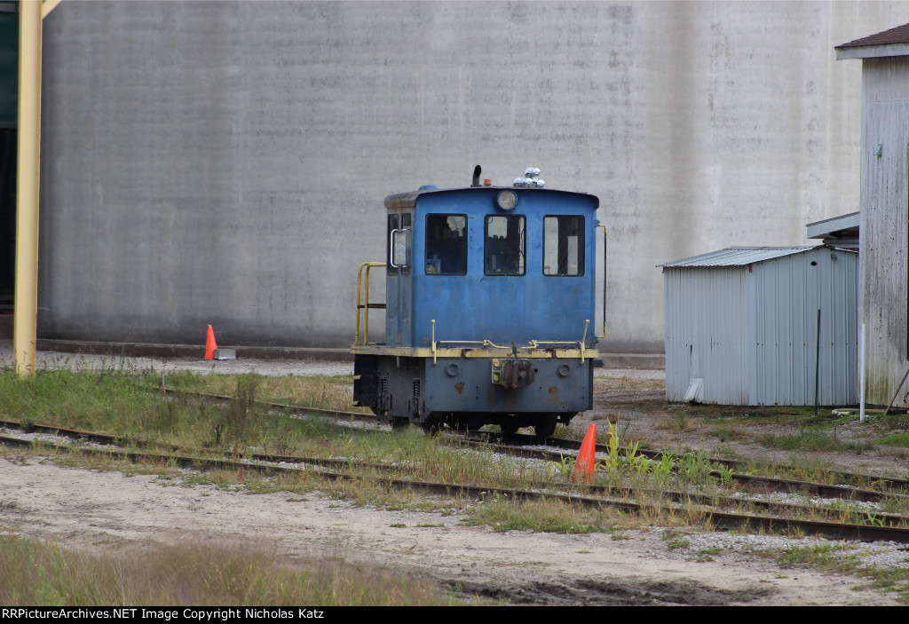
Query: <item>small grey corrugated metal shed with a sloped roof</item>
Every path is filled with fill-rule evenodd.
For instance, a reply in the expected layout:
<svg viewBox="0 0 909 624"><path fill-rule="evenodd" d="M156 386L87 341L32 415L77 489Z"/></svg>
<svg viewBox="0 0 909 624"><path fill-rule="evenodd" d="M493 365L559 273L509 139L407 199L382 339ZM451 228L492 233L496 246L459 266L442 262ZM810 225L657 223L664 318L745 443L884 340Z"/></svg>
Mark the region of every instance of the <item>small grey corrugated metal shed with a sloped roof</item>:
<svg viewBox="0 0 909 624"><path fill-rule="evenodd" d="M667 401L813 405L815 362L820 404L858 401L858 253L729 247L661 266Z"/></svg>

